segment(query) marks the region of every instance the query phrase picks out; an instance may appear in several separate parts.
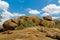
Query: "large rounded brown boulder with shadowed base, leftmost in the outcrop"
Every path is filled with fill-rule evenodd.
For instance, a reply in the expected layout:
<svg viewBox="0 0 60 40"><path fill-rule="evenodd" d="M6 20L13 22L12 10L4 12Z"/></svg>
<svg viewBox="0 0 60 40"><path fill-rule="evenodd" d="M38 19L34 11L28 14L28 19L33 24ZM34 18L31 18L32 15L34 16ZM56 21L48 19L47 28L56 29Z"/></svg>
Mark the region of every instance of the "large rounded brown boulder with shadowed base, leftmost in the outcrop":
<svg viewBox="0 0 60 40"><path fill-rule="evenodd" d="M15 21L14 21L15 22ZM3 28L5 30L14 30L18 27L18 24L14 23L12 20L7 20L3 23Z"/></svg>

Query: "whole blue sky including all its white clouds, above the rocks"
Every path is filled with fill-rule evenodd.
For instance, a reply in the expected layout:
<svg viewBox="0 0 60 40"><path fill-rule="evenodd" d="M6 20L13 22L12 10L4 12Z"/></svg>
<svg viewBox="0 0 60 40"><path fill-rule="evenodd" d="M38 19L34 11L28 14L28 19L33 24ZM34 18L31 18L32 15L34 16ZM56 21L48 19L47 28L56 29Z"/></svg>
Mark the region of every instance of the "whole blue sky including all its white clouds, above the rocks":
<svg viewBox="0 0 60 40"><path fill-rule="evenodd" d="M19 16L60 18L60 0L0 0L2 22Z"/></svg>

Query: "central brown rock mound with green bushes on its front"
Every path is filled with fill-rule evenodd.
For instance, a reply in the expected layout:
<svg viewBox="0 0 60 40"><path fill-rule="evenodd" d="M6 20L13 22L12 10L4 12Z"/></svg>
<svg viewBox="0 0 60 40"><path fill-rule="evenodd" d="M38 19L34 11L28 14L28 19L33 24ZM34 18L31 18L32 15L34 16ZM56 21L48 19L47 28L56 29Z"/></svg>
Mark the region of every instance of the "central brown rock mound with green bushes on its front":
<svg viewBox="0 0 60 40"><path fill-rule="evenodd" d="M36 26L39 25L39 22L41 21L39 17L37 16L21 16L19 19L19 26Z"/></svg>

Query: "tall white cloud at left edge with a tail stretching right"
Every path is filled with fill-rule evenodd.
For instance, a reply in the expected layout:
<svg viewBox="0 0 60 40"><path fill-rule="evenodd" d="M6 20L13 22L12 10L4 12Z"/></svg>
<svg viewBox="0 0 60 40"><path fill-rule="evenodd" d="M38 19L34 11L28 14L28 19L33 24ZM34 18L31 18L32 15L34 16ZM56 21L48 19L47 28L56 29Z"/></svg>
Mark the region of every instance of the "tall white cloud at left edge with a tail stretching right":
<svg viewBox="0 0 60 40"><path fill-rule="evenodd" d="M6 20L11 19L12 17L19 17L19 16L25 16L25 14L20 14L20 13L11 13L7 11L9 8L9 4L5 1L0 0L0 10L3 10L1 16L2 16L2 21L0 22L0 25L3 24Z"/></svg>

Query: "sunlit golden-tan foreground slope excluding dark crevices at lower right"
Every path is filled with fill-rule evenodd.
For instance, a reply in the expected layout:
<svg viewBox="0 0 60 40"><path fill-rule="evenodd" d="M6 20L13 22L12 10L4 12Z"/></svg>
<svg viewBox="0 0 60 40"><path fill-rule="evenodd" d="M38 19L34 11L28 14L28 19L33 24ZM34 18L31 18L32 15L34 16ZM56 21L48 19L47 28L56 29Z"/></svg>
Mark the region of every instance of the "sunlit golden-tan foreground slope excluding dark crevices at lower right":
<svg viewBox="0 0 60 40"><path fill-rule="evenodd" d="M25 28L23 30L14 30L11 31L12 34L0 33L0 40L54 40L52 38L46 37L46 33L41 32L42 28L44 28L44 30L47 30L47 32L52 35L55 33L55 30L52 31L52 29L50 30L46 27L36 26Z"/></svg>

